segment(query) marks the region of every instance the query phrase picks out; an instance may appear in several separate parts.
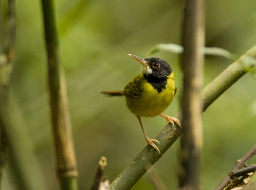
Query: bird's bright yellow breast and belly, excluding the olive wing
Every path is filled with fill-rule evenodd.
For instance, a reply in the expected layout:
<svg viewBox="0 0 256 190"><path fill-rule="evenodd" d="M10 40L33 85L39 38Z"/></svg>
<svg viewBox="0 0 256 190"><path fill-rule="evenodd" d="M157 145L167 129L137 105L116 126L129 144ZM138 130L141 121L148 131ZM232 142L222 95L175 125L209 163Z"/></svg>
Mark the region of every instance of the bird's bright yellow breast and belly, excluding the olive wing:
<svg viewBox="0 0 256 190"><path fill-rule="evenodd" d="M168 78L165 89L160 93L146 79L140 80L142 80L141 95L138 97L125 95L126 105L137 116L155 117L172 103L176 88L174 80L172 77Z"/></svg>

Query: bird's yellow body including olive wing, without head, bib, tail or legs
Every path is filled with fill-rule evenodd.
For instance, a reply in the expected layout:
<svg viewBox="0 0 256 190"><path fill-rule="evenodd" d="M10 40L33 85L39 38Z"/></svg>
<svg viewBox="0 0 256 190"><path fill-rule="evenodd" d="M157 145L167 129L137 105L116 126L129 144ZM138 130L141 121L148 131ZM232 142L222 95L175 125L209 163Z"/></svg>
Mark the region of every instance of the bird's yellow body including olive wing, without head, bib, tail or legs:
<svg viewBox="0 0 256 190"><path fill-rule="evenodd" d="M167 77L161 92L158 92L143 74L127 83L124 88L126 105L137 116L155 117L162 113L172 103L176 92L174 74Z"/></svg>

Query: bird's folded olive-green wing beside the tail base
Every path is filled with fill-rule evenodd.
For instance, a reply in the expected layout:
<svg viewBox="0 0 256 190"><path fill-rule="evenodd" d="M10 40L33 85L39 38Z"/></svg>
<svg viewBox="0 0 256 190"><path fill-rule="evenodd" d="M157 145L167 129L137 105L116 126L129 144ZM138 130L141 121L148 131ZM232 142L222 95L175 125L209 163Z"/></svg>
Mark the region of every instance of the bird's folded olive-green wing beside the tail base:
<svg viewBox="0 0 256 190"><path fill-rule="evenodd" d="M142 95L142 82L143 80L140 79L141 76L139 75L135 79L131 80L127 83L127 85L124 87L124 95L138 97Z"/></svg>

